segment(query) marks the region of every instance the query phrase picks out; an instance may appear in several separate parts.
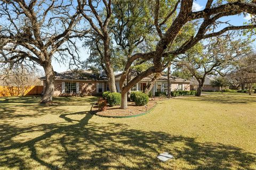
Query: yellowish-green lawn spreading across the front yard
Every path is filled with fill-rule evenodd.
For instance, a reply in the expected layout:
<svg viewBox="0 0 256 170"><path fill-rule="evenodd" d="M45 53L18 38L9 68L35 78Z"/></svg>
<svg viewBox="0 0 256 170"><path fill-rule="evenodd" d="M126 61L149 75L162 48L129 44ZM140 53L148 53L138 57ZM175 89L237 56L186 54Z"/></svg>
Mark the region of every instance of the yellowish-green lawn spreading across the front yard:
<svg viewBox="0 0 256 170"><path fill-rule="evenodd" d="M0 169L256 169L256 96L161 101L147 115L103 118L97 98L0 98ZM156 156L169 152L165 163Z"/></svg>

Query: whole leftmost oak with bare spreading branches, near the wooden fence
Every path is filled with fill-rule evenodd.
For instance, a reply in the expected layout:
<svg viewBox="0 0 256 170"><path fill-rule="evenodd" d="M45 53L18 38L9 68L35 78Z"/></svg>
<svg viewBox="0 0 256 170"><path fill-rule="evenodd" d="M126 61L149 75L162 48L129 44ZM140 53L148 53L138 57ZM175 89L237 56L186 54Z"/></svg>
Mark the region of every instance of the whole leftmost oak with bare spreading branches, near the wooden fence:
<svg viewBox="0 0 256 170"><path fill-rule="evenodd" d="M52 101L54 91L53 58L76 61L74 38L79 31L77 5L73 1L0 1L0 60L2 64L36 63L45 72L42 103ZM28 62L29 61L29 62Z"/></svg>

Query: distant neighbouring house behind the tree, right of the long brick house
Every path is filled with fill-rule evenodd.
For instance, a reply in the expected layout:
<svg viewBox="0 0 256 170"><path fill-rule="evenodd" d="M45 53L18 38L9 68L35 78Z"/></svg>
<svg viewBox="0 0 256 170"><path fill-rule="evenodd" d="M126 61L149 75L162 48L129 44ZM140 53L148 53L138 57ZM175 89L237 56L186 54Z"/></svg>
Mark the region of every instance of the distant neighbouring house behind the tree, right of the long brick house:
<svg viewBox="0 0 256 170"><path fill-rule="evenodd" d="M206 75L205 81L204 81L204 87L203 87L203 91L221 91L220 87L213 87L211 84L211 81L213 81L214 78L209 77L208 75ZM190 90L197 90L198 88L198 81L196 80L196 78L191 78L190 79L191 83L190 83Z"/></svg>

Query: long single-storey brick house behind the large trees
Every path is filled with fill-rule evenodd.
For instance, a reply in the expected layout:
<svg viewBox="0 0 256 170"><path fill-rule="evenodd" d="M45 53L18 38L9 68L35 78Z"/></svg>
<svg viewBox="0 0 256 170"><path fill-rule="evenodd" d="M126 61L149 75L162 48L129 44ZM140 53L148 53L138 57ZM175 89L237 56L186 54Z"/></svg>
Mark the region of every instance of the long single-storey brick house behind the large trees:
<svg viewBox="0 0 256 170"><path fill-rule="evenodd" d="M121 74L116 74L116 89L119 89L119 79ZM43 80L45 87L45 77L39 78ZM143 91L147 84L151 81L150 77L142 79L140 82L135 84L131 91ZM90 70L85 70L80 73L75 72L62 72L55 73L55 90L54 96L87 96L87 95L100 95L103 91L108 91L108 80L106 75L95 75ZM172 91L177 90L190 90L190 81L180 79L177 77L171 77L171 89ZM153 95L155 91L167 91L167 76L160 77L154 88L151 90Z"/></svg>

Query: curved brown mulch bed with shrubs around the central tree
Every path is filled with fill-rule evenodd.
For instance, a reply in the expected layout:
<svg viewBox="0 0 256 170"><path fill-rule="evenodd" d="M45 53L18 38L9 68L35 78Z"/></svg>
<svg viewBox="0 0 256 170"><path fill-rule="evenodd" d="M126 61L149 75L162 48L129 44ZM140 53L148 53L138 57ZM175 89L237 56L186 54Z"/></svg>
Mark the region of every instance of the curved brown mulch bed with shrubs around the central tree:
<svg viewBox="0 0 256 170"><path fill-rule="evenodd" d="M157 101L163 100L161 98L150 98L148 104L146 106L136 106L134 102L129 101L127 102L128 108L121 109L120 106L113 106L110 107L108 105L106 111L98 111L98 106L95 105L92 107L92 114L97 114L99 116L132 116L145 113L153 108Z"/></svg>

